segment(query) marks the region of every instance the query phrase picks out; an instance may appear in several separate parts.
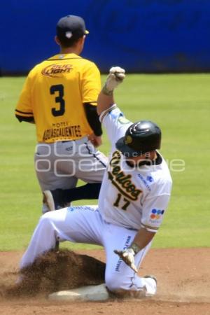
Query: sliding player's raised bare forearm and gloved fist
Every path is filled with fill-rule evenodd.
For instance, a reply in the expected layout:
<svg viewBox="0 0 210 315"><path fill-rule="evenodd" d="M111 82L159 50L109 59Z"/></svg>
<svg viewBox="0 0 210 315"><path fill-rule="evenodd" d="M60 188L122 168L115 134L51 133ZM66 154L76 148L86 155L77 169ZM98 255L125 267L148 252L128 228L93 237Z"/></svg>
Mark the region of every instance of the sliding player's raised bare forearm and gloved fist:
<svg viewBox="0 0 210 315"><path fill-rule="evenodd" d="M120 83L123 82L125 78L125 70L120 68L120 66L113 66L109 70L109 76L106 78L106 83L102 88L102 91L99 93L98 104L97 104L97 113L101 115L103 111L109 109L114 102L113 90L118 87Z"/></svg>

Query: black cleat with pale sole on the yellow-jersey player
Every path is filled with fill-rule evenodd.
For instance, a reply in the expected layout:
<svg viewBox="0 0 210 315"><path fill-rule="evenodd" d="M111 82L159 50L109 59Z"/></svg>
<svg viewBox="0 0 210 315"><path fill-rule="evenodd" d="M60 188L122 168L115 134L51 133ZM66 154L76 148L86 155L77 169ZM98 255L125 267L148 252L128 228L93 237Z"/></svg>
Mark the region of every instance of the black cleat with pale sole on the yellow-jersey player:
<svg viewBox="0 0 210 315"><path fill-rule="evenodd" d="M43 202L48 205L50 211L58 210L67 207L63 201L63 190L45 190L43 192Z"/></svg>

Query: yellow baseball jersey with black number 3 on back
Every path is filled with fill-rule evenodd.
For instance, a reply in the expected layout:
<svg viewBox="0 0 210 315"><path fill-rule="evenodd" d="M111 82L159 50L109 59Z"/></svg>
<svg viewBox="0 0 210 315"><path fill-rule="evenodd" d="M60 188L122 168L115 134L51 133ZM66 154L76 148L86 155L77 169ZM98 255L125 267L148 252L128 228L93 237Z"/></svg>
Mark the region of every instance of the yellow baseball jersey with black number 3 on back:
<svg viewBox="0 0 210 315"><path fill-rule="evenodd" d="M32 119L38 142L76 140L92 133L84 104L97 105L97 66L76 54L55 55L29 72L15 109Z"/></svg>

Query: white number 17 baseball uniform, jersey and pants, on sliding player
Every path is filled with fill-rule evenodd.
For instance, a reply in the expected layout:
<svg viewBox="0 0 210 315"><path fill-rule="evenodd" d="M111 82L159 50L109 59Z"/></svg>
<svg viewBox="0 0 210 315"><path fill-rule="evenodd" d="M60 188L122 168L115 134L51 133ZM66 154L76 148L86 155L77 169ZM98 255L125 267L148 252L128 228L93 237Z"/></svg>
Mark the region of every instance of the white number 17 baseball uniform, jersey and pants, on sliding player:
<svg viewBox="0 0 210 315"><path fill-rule="evenodd" d="M141 295L156 293L155 280L139 277L113 253L132 244L137 231L144 227L157 232L167 209L172 179L167 163L159 156L158 165L130 167L125 156L116 151L116 141L132 124L120 109L112 106L100 116L112 144L112 154L104 174L99 206L69 207L44 214L34 231L20 267L31 264L55 241L99 244L106 251L105 282L109 290L134 290ZM135 255L141 265L151 243Z"/></svg>

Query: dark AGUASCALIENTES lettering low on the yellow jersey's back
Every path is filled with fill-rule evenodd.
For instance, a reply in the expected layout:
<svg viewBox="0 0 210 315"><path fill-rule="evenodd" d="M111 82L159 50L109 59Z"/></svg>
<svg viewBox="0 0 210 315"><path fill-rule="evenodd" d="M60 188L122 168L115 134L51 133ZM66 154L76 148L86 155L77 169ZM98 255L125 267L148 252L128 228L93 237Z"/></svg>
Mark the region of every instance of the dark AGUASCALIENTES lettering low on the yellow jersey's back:
<svg viewBox="0 0 210 315"><path fill-rule="evenodd" d="M55 138L78 139L82 137L80 125L59 127L62 123L52 124L51 129L46 129L43 133L43 141Z"/></svg>

